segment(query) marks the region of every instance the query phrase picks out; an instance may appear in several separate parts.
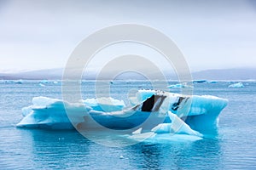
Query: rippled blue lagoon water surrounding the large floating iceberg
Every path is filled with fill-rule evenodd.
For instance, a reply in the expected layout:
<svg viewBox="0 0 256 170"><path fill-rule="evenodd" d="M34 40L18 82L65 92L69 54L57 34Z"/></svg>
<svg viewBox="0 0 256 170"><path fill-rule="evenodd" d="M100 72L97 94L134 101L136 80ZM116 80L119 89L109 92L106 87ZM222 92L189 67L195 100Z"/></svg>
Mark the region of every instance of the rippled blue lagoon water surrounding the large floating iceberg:
<svg viewBox="0 0 256 170"><path fill-rule="evenodd" d="M31 105L33 97L61 99L61 83L0 82L0 169L255 169L256 82L243 84L244 88L228 88L230 82L195 83L194 94L229 99L215 137L114 148L74 130L15 127L23 117L22 107ZM113 98L126 103L131 89L152 88L149 82L105 85ZM83 82L82 94L83 99L95 97L94 82Z"/></svg>

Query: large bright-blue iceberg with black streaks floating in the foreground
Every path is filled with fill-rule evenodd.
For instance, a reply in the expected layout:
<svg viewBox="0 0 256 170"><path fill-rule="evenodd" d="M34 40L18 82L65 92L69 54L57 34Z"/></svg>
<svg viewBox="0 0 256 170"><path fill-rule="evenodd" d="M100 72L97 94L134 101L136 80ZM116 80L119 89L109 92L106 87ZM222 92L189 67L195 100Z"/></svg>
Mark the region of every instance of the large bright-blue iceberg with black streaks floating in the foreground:
<svg viewBox="0 0 256 170"><path fill-rule="evenodd" d="M179 138L201 139L215 132L218 115L227 99L209 95L183 95L155 90L139 90L131 98L131 106L113 98L85 99L69 103L61 99L35 97L32 105L22 109L24 118L17 127L46 127L52 129L127 130L131 139ZM154 138L160 136L160 138ZM191 137L194 136L194 137Z"/></svg>

